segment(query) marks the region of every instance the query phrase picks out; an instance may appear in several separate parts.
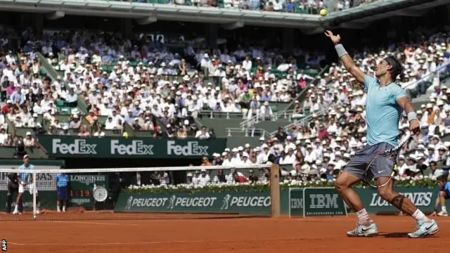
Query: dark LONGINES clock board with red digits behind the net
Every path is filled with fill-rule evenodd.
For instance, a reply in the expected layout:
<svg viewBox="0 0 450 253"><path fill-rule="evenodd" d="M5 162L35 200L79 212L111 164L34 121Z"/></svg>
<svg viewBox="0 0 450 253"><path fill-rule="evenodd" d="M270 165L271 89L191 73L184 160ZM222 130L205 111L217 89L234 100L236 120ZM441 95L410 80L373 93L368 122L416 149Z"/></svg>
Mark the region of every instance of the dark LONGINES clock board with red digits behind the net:
<svg viewBox="0 0 450 253"><path fill-rule="evenodd" d="M105 174L70 174L69 202L72 206L86 209L94 207L94 186L108 188L108 176Z"/></svg>

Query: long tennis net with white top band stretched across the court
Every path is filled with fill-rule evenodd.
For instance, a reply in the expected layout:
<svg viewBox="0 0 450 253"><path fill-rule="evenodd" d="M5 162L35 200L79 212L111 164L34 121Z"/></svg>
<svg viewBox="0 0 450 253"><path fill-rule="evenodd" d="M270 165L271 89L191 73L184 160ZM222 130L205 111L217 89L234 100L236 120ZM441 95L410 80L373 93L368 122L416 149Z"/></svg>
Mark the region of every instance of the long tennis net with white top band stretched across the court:
<svg viewBox="0 0 450 253"><path fill-rule="evenodd" d="M276 165L0 169L0 220L271 216L275 174Z"/></svg>

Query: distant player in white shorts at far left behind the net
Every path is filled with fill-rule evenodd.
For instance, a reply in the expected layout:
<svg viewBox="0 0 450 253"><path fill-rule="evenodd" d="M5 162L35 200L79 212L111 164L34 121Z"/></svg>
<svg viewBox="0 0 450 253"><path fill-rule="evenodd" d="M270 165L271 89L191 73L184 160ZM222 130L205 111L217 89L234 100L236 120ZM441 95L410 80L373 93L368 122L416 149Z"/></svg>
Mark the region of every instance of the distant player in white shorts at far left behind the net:
<svg viewBox="0 0 450 253"><path fill-rule="evenodd" d="M25 155L23 157L23 164L20 165L19 169L34 169L34 165L30 164L30 157L28 155ZM25 192L25 190L28 190L31 195L33 195L33 188L36 186L35 182L32 181L32 174L31 173L20 173L19 176L19 193L17 195L17 198L15 199L15 208L13 214L22 214L19 212L19 203L20 200L22 200L22 195ZM36 212L39 214L39 197L37 195L37 189L36 189L36 202L37 202L37 209Z"/></svg>

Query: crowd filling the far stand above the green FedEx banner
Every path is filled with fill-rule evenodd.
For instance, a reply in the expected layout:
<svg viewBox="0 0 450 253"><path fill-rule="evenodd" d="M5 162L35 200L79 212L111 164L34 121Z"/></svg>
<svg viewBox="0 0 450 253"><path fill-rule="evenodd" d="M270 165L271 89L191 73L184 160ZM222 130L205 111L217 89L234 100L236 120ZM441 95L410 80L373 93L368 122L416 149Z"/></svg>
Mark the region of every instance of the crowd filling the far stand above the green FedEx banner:
<svg viewBox="0 0 450 253"><path fill-rule="evenodd" d="M156 138L214 138L213 129L195 124L199 112L248 112L251 117L270 111L269 102L293 100L313 79L298 69L298 58L314 67L324 59L300 49L285 56L276 48L207 51L191 44L181 57L169 51L163 36L130 40L80 30L37 39L30 29L20 36L23 46L0 55L0 123L11 133L7 117L32 136L103 137L106 130L127 135L123 129L129 124ZM6 41L4 48L12 46ZM44 72L37 52L59 73L57 79ZM80 100L87 115L77 108Z"/></svg>

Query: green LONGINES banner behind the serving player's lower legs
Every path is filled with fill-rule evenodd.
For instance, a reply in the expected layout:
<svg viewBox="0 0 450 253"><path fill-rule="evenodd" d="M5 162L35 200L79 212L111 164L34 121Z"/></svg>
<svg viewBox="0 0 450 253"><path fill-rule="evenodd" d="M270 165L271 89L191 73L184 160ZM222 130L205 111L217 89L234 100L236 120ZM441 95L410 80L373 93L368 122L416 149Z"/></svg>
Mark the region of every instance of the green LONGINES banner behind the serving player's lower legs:
<svg viewBox="0 0 450 253"><path fill-rule="evenodd" d="M356 193L361 196L361 200L364 203L364 207L370 214L383 214L398 212L397 208L390 205L386 200L383 200L378 195L375 189L355 189ZM419 188L419 187L396 187L394 188L397 193L408 197L416 207L422 212L430 213L435 209L435 201L439 188ZM446 201L447 207L449 207L449 201Z"/></svg>

